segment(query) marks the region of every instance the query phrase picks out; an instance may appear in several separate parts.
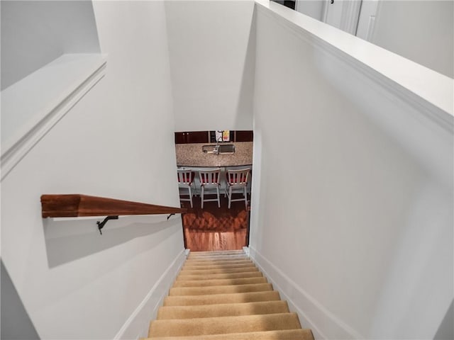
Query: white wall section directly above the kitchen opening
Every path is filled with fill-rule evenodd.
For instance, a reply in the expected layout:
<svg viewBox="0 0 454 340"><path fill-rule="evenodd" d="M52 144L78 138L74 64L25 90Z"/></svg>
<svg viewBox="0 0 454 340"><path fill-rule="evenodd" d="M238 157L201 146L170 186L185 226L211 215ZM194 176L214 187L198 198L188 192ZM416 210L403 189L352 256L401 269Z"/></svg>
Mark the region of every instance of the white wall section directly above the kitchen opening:
<svg viewBox="0 0 454 340"><path fill-rule="evenodd" d="M253 1L166 1L175 131L251 130Z"/></svg>

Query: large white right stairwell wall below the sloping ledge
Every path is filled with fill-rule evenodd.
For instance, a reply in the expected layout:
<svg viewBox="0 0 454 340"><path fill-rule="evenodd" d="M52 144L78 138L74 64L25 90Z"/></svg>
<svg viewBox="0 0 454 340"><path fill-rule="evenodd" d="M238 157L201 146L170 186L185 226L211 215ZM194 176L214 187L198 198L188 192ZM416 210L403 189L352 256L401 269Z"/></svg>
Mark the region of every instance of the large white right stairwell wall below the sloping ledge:
<svg viewBox="0 0 454 340"><path fill-rule="evenodd" d="M336 52L321 40L333 28L301 19L309 34L267 6L277 8L257 12L251 255L318 339L433 339L453 300L452 116L433 120Z"/></svg>

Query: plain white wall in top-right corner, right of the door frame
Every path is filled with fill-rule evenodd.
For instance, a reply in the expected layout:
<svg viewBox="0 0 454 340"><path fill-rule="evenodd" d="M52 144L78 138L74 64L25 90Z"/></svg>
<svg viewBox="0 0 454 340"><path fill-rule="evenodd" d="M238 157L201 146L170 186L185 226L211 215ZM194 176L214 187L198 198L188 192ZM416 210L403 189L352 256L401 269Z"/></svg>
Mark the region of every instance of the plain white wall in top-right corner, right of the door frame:
<svg viewBox="0 0 454 340"><path fill-rule="evenodd" d="M380 1L371 41L454 78L454 2Z"/></svg>

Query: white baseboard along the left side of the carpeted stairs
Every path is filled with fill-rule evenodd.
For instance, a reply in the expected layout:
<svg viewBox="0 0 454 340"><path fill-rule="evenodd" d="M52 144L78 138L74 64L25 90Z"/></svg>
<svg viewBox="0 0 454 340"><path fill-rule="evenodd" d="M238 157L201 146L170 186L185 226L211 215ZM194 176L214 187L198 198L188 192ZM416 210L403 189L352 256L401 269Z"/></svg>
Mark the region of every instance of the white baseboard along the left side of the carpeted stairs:
<svg viewBox="0 0 454 340"><path fill-rule="evenodd" d="M183 249L123 324L123 327L114 337L115 340L136 340L148 337L148 325L152 319L156 319L157 310L162 305L164 297L167 296L170 286L175 281L184 261L186 261L186 257L187 251Z"/></svg>

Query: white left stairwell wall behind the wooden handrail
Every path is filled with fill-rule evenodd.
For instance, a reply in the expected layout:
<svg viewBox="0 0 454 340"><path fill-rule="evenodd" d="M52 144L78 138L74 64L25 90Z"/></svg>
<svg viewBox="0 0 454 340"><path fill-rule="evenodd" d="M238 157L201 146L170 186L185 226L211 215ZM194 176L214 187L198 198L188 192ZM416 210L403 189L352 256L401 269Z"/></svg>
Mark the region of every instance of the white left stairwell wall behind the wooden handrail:
<svg viewBox="0 0 454 340"><path fill-rule="evenodd" d="M41 339L145 336L184 258L179 217L124 217L102 236L96 220L40 217L43 193L179 206L164 4L94 13L106 76L1 182L2 260Z"/></svg>

